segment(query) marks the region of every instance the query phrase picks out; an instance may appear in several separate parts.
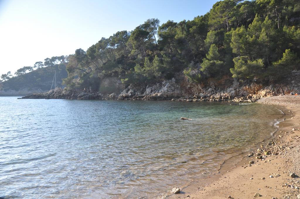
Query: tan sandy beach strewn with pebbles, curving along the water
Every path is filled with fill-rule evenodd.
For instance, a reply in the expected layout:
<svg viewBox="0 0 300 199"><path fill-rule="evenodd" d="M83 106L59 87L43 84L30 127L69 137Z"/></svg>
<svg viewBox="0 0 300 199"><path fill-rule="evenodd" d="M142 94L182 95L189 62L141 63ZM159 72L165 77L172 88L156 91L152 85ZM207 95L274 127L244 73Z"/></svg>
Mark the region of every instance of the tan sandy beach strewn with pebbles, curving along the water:
<svg viewBox="0 0 300 199"><path fill-rule="evenodd" d="M274 139L249 151L213 183L183 188L170 198L300 198L300 96L267 97L258 103L277 105L285 113Z"/></svg>

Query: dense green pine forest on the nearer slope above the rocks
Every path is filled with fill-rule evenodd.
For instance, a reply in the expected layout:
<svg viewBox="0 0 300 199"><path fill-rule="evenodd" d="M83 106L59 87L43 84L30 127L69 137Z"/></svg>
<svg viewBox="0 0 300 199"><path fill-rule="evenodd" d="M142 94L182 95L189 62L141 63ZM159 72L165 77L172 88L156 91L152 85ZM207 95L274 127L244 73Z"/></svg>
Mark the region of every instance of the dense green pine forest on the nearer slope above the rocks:
<svg viewBox="0 0 300 199"><path fill-rule="evenodd" d="M300 1L224 0L193 20L148 19L69 56L69 89L97 90L104 77L151 84L184 73L190 81L232 76L280 79L299 70Z"/></svg>

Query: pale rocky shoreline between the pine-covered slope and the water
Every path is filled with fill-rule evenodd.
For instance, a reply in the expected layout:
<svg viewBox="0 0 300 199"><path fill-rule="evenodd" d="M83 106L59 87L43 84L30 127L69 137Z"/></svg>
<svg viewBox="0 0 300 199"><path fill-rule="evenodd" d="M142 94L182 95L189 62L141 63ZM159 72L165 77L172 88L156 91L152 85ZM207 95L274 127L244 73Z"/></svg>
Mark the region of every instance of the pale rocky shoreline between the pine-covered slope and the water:
<svg viewBox="0 0 300 199"><path fill-rule="evenodd" d="M106 83L107 84L107 83ZM224 77L223 79L209 79L204 85L190 82L179 76L161 83L147 86L125 86L119 80L110 82L111 87L119 91L92 91L91 89L67 90L55 88L46 93L38 93L22 97L21 99L78 99L78 100L173 100L173 101L230 101L255 102L264 97L300 93L300 71L293 71L291 75L278 83L271 82L242 82L238 79ZM107 90L109 89L107 84Z"/></svg>

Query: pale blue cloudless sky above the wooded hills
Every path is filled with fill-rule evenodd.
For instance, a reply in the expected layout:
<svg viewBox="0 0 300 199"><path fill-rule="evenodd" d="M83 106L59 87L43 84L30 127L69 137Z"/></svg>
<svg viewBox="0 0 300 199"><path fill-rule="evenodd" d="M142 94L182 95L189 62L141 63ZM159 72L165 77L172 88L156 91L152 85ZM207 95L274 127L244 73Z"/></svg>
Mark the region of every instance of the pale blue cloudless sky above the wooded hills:
<svg viewBox="0 0 300 199"><path fill-rule="evenodd" d="M150 18L179 22L217 0L0 0L0 75L47 57L86 50L101 37L131 31Z"/></svg>

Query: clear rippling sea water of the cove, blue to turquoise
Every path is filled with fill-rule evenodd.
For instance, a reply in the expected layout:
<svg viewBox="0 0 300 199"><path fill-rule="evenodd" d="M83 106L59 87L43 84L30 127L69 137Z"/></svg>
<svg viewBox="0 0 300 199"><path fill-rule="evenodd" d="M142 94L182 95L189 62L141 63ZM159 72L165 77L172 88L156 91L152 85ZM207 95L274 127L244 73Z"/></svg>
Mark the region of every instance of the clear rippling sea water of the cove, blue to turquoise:
<svg viewBox="0 0 300 199"><path fill-rule="evenodd" d="M260 104L16 97L0 97L0 111L4 198L160 198L270 139L282 116Z"/></svg>

